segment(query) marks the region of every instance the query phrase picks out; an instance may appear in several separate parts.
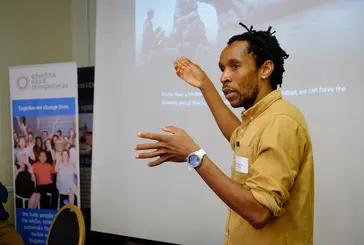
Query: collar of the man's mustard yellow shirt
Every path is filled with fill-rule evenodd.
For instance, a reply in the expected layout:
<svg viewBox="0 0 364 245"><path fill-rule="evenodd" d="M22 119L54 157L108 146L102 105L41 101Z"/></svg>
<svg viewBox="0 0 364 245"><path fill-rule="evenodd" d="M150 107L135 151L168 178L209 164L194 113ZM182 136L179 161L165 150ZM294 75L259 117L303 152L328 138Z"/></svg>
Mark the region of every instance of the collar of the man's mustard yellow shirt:
<svg viewBox="0 0 364 245"><path fill-rule="evenodd" d="M282 99L282 92L280 90L274 90L267 94L263 99L258 101L255 105L248 110L241 113L243 126L247 125L254 118L257 118L265 110L267 110L274 102Z"/></svg>

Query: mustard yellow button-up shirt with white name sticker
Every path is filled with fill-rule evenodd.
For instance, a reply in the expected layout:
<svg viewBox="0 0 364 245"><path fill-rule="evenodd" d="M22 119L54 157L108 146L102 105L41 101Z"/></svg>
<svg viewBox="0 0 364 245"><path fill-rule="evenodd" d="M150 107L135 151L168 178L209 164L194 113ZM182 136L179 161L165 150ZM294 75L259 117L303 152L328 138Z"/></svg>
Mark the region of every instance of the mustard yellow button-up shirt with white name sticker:
<svg viewBox="0 0 364 245"><path fill-rule="evenodd" d="M229 209L225 245L313 244L313 153L300 110L275 90L242 113L230 143L232 179L274 217L256 230Z"/></svg>

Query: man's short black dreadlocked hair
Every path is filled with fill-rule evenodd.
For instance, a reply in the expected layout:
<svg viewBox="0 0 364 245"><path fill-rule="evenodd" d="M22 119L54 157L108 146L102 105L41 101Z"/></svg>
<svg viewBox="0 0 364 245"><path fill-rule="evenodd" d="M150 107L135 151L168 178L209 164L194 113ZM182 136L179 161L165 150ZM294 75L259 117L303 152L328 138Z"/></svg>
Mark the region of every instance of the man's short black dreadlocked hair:
<svg viewBox="0 0 364 245"><path fill-rule="evenodd" d="M271 32L272 27L270 26L267 31L256 31L253 30L253 26L248 28L243 23L239 23L243 26L247 32L243 34L235 35L228 41L228 45L235 41L248 41L249 49L248 52L254 54L256 66L261 67L264 62L271 60L274 64L274 69L271 74L271 85L273 89L277 89L278 85L282 85L284 60L289 55L279 46L278 40Z"/></svg>

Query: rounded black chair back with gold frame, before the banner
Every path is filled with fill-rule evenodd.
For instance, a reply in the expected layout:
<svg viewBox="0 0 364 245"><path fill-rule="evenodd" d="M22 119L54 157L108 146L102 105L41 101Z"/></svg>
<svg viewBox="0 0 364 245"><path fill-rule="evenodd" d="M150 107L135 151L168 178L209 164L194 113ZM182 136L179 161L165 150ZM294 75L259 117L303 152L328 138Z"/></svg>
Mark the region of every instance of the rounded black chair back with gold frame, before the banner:
<svg viewBox="0 0 364 245"><path fill-rule="evenodd" d="M54 217L48 232L47 245L84 245L85 221L75 205L63 206Z"/></svg>

